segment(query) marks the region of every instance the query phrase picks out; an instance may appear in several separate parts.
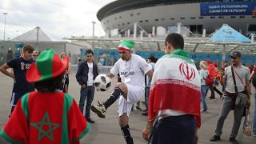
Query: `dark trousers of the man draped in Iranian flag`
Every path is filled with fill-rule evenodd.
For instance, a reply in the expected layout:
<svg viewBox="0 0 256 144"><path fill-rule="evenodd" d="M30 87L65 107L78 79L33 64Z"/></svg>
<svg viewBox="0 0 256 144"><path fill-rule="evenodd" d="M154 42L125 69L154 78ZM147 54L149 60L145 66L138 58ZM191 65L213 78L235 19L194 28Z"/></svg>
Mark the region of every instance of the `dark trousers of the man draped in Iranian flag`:
<svg viewBox="0 0 256 144"><path fill-rule="evenodd" d="M150 144L195 144L194 116L190 114L160 119L154 126Z"/></svg>

